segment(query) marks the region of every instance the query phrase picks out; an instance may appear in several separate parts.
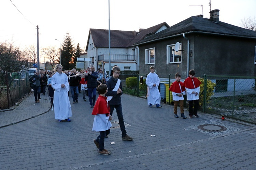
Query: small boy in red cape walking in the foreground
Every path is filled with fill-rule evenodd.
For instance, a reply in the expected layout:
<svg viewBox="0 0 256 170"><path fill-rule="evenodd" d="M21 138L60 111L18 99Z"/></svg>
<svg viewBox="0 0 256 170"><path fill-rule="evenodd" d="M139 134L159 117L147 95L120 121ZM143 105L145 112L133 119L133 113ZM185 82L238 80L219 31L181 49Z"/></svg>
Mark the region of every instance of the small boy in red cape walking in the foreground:
<svg viewBox="0 0 256 170"><path fill-rule="evenodd" d="M107 97L105 97L105 94L108 92L108 87L105 84L100 84L98 86L98 92L100 95L93 108L93 113L91 114L95 115L93 131L100 132L100 135L93 141L99 149L99 154L109 155L111 152L104 148L105 137L110 133L110 127L112 126L110 122L110 120L112 120L110 108Z"/></svg>

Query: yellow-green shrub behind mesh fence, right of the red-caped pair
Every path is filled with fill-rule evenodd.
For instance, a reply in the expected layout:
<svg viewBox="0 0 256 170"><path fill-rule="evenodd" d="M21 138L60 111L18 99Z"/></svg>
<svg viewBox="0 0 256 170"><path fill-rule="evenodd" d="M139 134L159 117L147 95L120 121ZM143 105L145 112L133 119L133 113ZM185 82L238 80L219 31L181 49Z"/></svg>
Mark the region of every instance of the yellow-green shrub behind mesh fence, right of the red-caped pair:
<svg viewBox="0 0 256 170"><path fill-rule="evenodd" d="M200 80L200 82L202 84L200 84L200 96L199 96L199 108L201 108L201 106L203 105L203 90L204 90L204 79L198 77L198 79ZM211 80L207 79L207 90L206 90L206 102L209 103L209 100L211 98L211 96L214 94L213 90L214 87L216 86L215 83L213 83Z"/></svg>

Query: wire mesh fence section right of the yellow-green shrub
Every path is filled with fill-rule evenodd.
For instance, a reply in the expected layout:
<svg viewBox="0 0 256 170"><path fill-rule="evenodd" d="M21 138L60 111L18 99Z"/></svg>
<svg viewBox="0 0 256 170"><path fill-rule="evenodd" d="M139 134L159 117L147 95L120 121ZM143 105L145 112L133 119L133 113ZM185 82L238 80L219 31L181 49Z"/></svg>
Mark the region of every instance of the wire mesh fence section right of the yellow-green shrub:
<svg viewBox="0 0 256 170"><path fill-rule="evenodd" d="M204 101L204 112L256 124L256 77L205 75L205 79L216 86L211 98Z"/></svg>

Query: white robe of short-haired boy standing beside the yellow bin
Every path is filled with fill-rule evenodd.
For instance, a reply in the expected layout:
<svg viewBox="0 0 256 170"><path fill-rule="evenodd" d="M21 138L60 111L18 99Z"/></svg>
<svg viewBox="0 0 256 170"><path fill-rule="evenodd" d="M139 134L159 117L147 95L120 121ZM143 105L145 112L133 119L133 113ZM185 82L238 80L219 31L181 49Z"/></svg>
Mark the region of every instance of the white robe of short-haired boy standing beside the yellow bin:
<svg viewBox="0 0 256 170"><path fill-rule="evenodd" d="M146 78L147 88L147 104L160 104L161 95L158 90L160 79L156 73L150 72ZM156 84L156 86L153 86Z"/></svg>

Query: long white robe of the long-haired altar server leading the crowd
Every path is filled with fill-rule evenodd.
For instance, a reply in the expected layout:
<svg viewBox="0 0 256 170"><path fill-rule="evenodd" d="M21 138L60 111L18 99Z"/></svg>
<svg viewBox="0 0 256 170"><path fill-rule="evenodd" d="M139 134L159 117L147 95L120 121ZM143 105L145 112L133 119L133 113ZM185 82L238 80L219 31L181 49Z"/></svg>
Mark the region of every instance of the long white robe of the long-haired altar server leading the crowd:
<svg viewBox="0 0 256 170"><path fill-rule="evenodd" d="M65 84L65 87L61 87L61 84ZM68 97L69 82L67 74L56 72L52 77L52 87L55 89L53 100L55 119L68 119L72 116L72 111Z"/></svg>

